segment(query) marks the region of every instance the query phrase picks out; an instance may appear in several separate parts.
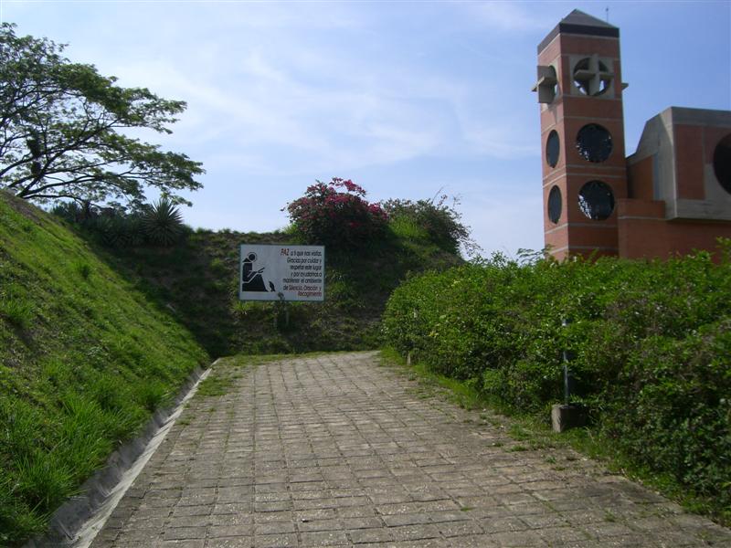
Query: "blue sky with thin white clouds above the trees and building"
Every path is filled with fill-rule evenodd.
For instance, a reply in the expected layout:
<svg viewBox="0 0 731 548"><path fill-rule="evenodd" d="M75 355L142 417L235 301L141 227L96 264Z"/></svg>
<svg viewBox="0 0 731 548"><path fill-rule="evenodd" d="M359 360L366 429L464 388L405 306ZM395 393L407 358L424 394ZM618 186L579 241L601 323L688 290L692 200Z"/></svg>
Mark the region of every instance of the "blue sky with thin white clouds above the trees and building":
<svg viewBox="0 0 731 548"><path fill-rule="evenodd" d="M731 2L0 0L17 34L187 111L146 136L203 162L193 227L265 231L315 179L459 196L486 253L543 247L536 46L577 8L620 27L627 153L669 106L731 110Z"/></svg>

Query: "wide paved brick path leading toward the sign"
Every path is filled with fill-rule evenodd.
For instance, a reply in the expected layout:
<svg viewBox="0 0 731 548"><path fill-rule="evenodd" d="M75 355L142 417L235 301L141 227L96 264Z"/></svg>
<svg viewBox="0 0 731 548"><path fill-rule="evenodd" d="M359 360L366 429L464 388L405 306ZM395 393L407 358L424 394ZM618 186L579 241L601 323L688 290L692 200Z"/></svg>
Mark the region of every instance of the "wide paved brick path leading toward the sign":
<svg viewBox="0 0 731 548"><path fill-rule="evenodd" d="M731 546L571 451L524 450L376 353L212 375L228 394L191 401L93 548Z"/></svg>

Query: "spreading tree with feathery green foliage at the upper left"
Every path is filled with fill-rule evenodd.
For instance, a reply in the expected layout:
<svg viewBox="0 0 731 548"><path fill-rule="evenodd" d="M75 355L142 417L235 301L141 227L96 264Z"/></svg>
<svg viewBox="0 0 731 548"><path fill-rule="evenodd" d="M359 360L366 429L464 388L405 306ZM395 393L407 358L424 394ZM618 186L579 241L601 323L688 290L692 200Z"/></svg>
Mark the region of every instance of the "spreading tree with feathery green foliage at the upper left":
<svg viewBox="0 0 731 548"><path fill-rule="evenodd" d="M202 186L194 179L202 164L129 134L171 133L166 126L185 102L117 86L93 65L62 57L64 47L0 26L0 188L122 208L117 200L142 205L149 185L187 203L175 193Z"/></svg>

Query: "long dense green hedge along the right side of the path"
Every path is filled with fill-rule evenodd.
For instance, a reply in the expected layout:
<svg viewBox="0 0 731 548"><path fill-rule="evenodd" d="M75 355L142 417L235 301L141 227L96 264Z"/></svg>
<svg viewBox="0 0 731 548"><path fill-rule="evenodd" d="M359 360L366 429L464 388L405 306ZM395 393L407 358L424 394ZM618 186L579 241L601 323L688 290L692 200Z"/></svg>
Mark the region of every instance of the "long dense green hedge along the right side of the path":
<svg viewBox="0 0 731 548"><path fill-rule="evenodd" d="M522 412L575 402L641 466L731 511L731 260L494 256L408 280L383 329L401 353ZM569 321L562 327L562 320ZM547 416L547 413L546 413Z"/></svg>

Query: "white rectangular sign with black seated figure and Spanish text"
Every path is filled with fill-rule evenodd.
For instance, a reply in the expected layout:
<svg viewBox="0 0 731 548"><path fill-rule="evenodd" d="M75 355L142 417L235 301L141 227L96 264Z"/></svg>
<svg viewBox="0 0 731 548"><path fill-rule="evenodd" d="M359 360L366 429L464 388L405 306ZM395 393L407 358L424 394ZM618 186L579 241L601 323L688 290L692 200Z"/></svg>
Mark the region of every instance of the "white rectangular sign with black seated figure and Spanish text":
<svg viewBox="0 0 731 548"><path fill-rule="evenodd" d="M238 299L324 300L325 248L241 244Z"/></svg>

